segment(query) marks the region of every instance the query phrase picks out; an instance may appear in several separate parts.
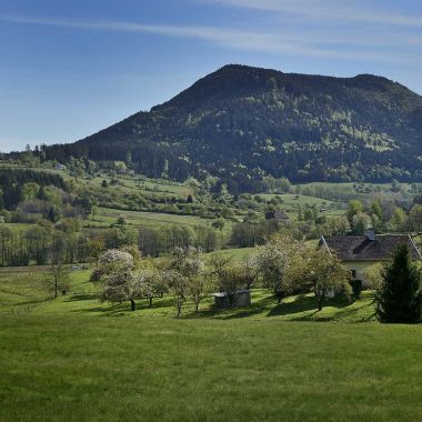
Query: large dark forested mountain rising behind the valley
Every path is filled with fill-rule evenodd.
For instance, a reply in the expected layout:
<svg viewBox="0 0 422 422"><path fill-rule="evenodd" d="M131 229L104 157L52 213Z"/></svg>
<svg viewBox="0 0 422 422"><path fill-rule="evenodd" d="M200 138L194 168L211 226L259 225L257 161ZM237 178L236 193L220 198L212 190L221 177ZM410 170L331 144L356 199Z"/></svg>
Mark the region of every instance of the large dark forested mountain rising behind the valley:
<svg viewBox="0 0 422 422"><path fill-rule="evenodd" d="M127 160L149 177L217 175L232 191L295 182L422 180L422 97L371 74L225 66L170 101L48 157Z"/></svg>

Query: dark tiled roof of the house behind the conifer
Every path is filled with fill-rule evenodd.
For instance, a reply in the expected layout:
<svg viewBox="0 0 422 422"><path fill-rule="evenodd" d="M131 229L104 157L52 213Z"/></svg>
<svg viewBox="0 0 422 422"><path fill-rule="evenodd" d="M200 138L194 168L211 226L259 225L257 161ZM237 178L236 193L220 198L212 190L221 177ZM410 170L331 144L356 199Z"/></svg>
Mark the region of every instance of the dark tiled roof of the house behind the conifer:
<svg viewBox="0 0 422 422"><path fill-rule="evenodd" d="M403 243L414 260L422 259L409 234L378 234L374 240L365 235L321 237L320 240L320 245L336 252L342 261L384 261Z"/></svg>

